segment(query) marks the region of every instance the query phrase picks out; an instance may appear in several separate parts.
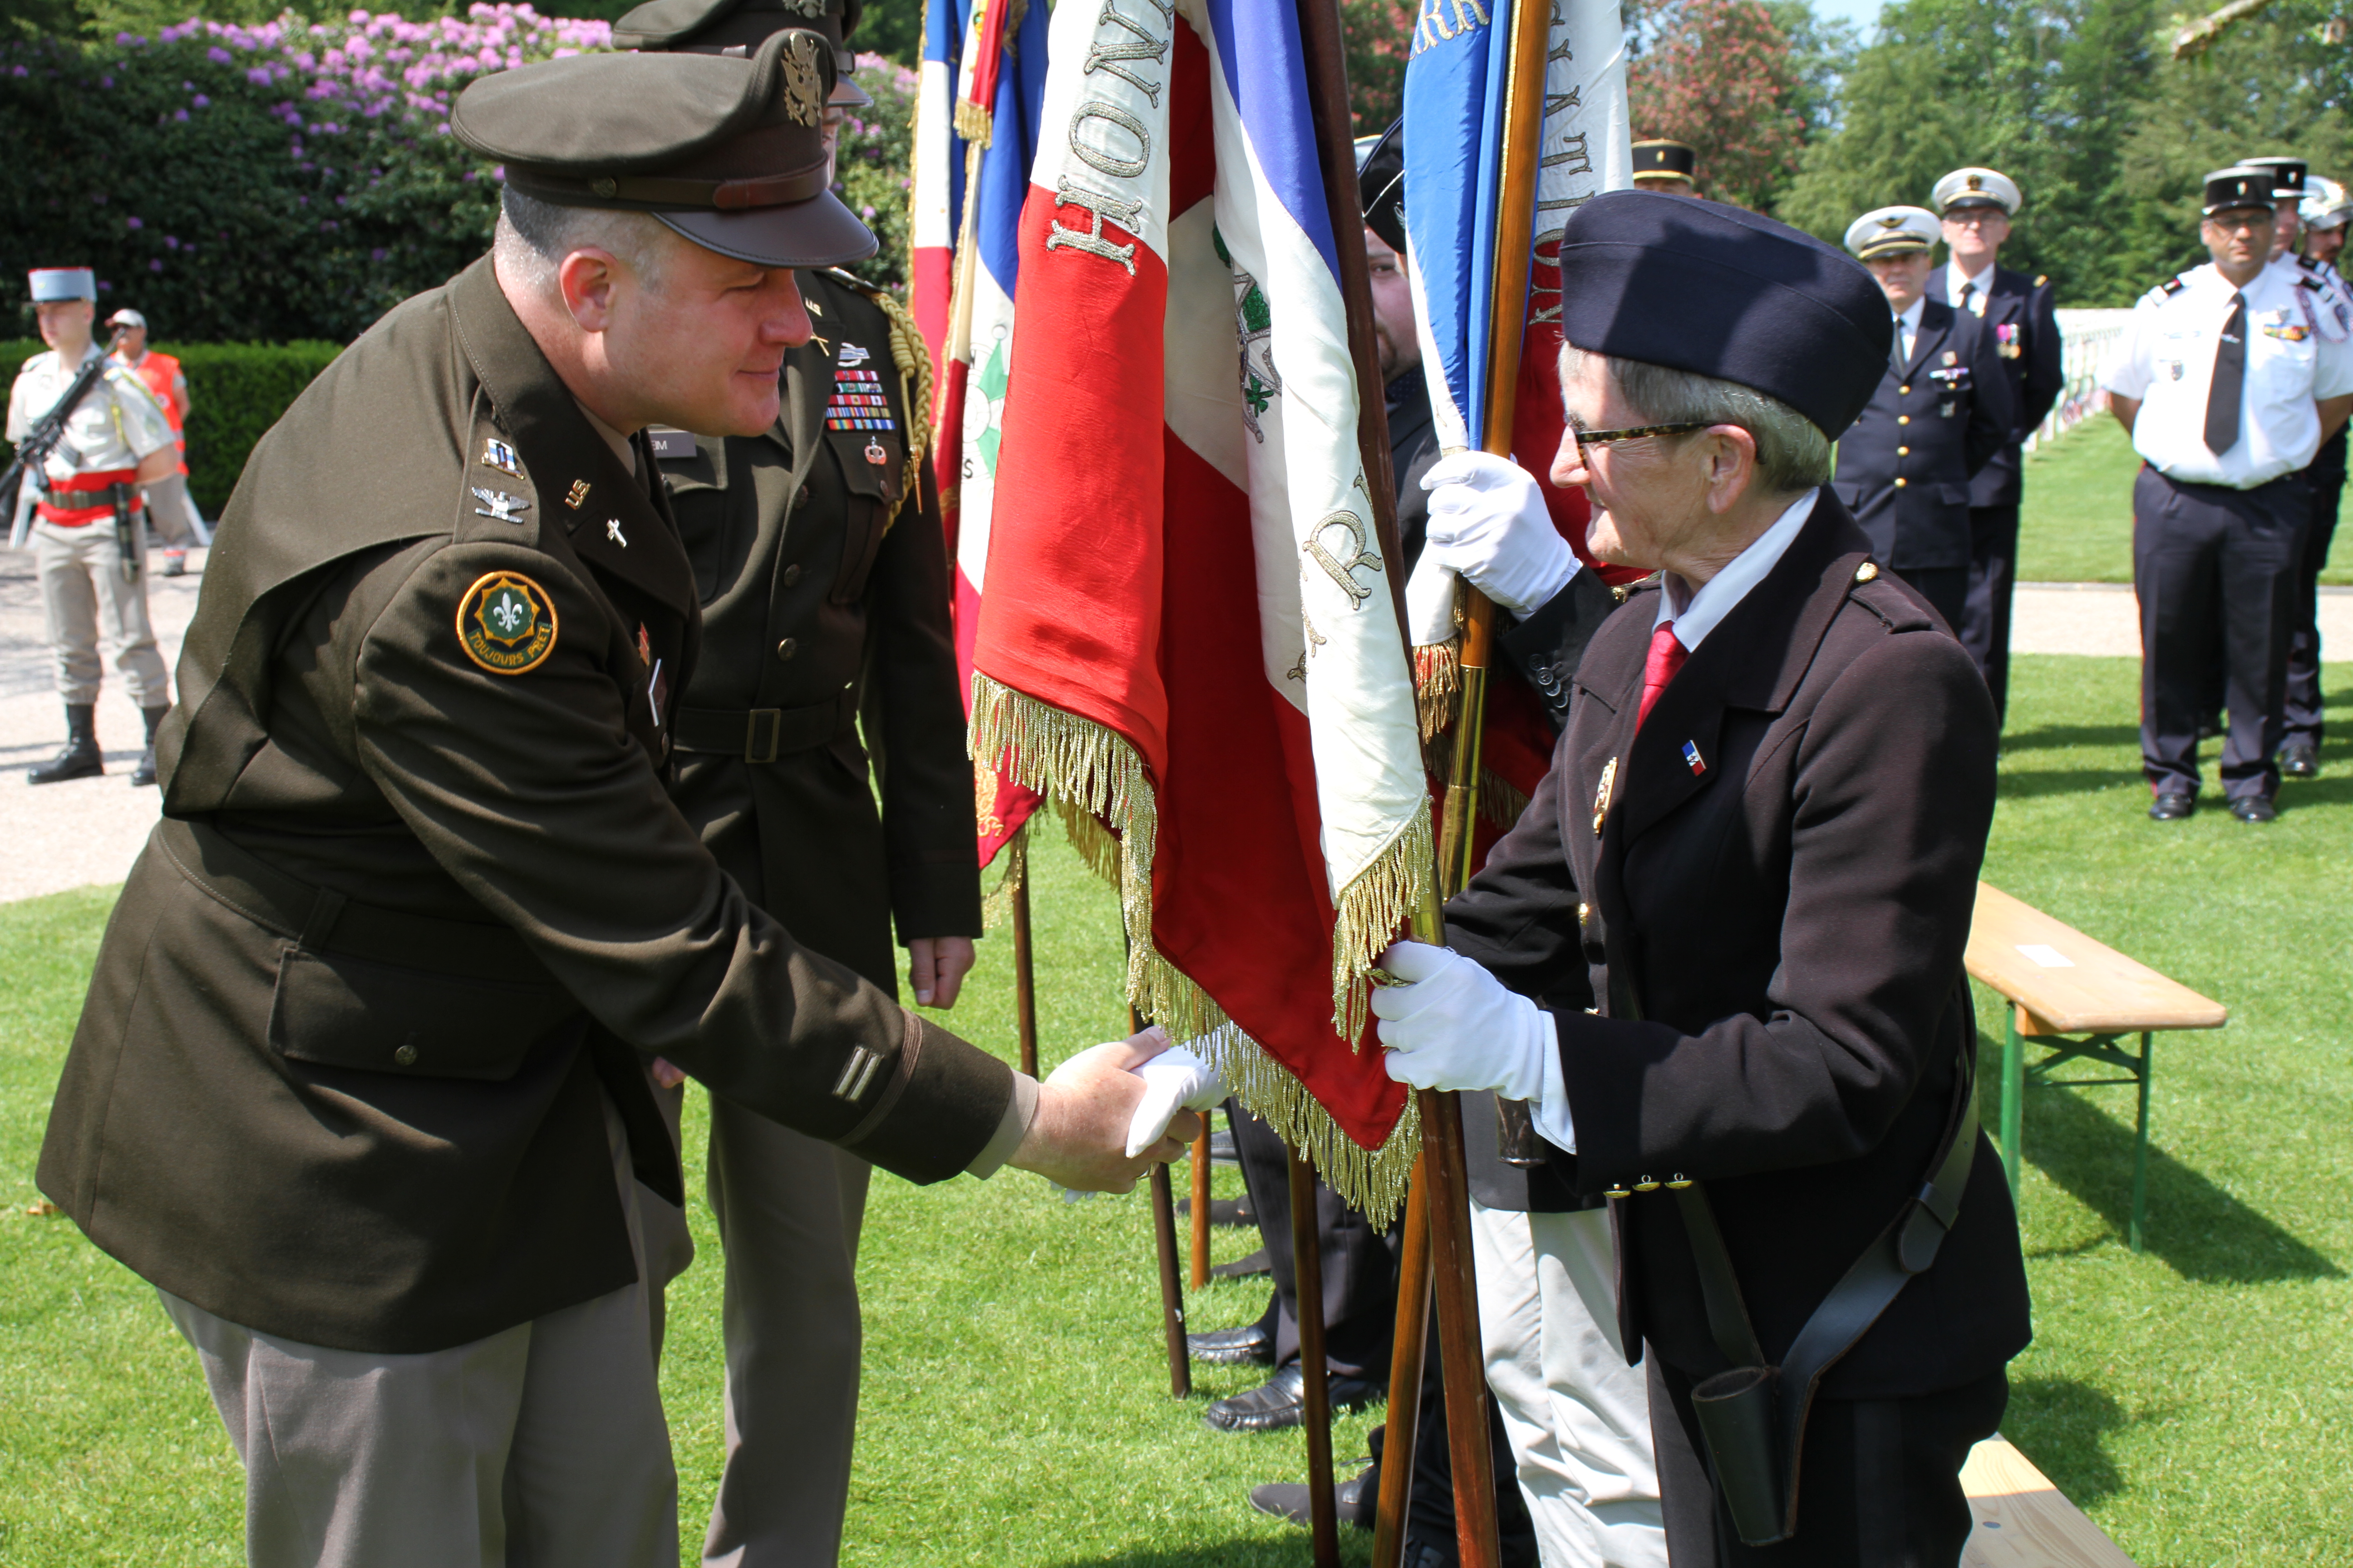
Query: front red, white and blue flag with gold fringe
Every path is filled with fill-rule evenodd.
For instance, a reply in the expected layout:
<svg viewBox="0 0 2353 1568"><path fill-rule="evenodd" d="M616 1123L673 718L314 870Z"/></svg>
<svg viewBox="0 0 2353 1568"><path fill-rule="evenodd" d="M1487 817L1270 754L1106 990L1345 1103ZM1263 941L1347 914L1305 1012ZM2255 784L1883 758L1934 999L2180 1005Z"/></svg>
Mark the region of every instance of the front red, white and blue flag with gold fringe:
<svg viewBox="0 0 2353 1568"><path fill-rule="evenodd" d="M1379 1213L1362 971L1431 830L1297 9L1061 5L1047 54L974 757L1118 837L1129 997Z"/></svg>

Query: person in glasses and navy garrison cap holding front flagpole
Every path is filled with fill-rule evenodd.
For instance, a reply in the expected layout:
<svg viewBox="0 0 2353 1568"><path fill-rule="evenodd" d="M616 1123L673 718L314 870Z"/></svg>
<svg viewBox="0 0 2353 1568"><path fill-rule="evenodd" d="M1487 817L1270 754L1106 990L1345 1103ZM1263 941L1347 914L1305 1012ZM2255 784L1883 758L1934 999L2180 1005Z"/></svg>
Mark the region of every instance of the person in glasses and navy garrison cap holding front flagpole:
<svg viewBox="0 0 2353 1568"><path fill-rule="evenodd" d="M1560 299L1553 480L1661 576L1447 947L1381 954L1388 1070L1532 1103L1609 1201L1671 1561L1953 1563L2026 1267L1962 971L1993 703L1826 484L1887 296L1772 219L1614 190Z"/></svg>

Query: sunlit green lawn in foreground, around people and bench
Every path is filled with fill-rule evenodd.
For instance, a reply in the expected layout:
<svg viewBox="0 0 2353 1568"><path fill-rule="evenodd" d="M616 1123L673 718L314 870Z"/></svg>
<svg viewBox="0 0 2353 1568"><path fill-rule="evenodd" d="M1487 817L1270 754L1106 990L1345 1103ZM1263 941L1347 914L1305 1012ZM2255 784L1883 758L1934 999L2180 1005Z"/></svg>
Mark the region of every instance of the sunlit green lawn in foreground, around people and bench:
<svg viewBox="0 0 2353 1568"><path fill-rule="evenodd" d="M2329 668L2341 724L2353 668ZM2158 1041L2148 1251L2122 1244L2129 1091L2040 1091L2026 1114L2035 1345L2005 1432L2144 1568L2353 1563L2353 745L2273 827L2158 827L2127 661L2021 658L1988 879L2231 1006ZM1115 910L1038 856L1049 1058L1122 1032ZM61 1218L33 1157L111 891L0 907L0 1563L242 1561L240 1479L153 1293ZM955 1023L1009 1041L1007 943ZM1981 1025L1998 1030L1986 1006ZM1995 1034L1998 1039L1998 1034ZM1991 1060L1988 1060L1991 1067ZM699 1147L699 1135L689 1140ZM1219 1173L1231 1185L1231 1173ZM673 1291L664 1368L689 1540L720 1455L718 1253ZM1219 1253L1249 1246L1219 1234ZM1167 1399L1139 1197L1064 1204L1019 1173L875 1182L849 1563L1261 1568L1301 1533L1242 1493L1304 1469L1299 1434L1221 1436ZM1193 1326L1257 1314L1212 1288ZM1346 1418L1341 1458L1372 1415ZM692 1561L692 1556L689 1556ZM1365 1540L1348 1540L1365 1561Z"/></svg>

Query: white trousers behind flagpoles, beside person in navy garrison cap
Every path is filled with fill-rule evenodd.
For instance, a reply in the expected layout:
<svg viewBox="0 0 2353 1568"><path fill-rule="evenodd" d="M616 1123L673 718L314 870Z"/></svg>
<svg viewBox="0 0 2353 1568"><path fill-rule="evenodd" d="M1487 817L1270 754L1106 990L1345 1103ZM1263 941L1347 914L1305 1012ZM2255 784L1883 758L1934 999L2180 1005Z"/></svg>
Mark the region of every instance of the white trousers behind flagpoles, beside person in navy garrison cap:
<svg viewBox="0 0 2353 1568"><path fill-rule="evenodd" d="M1607 1211L1471 1204L1487 1387L1544 1568L1666 1568L1649 1389L1617 1331Z"/></svg>

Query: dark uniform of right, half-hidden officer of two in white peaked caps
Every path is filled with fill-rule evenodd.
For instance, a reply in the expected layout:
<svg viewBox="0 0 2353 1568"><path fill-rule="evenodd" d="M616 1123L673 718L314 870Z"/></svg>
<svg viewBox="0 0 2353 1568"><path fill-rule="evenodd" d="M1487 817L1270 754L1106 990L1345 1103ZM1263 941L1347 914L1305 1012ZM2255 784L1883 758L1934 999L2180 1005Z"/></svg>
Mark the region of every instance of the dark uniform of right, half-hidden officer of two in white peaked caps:
<svg viewBox="0 0 2353 1568"><path fill-rule="evenodd" d="M1984 310L1948 294L1951 268L1927 275L1927 296L1967 310L1993 331L1993 353L2009 381L2012 440L1969 480L1969 602L1953 625L1960 646L1993 689L1993 712L2009 710L2009 602L2019 574L2019 501L2024 496L2026 437L2042 425L2066 386L2059 313L2047 277L2028 277L1995 266L1986 280Z"/></svg>

